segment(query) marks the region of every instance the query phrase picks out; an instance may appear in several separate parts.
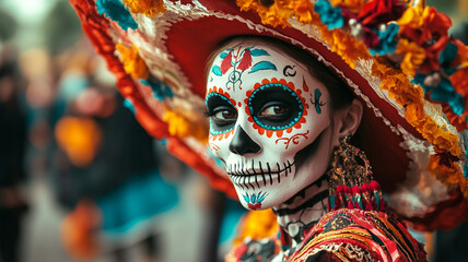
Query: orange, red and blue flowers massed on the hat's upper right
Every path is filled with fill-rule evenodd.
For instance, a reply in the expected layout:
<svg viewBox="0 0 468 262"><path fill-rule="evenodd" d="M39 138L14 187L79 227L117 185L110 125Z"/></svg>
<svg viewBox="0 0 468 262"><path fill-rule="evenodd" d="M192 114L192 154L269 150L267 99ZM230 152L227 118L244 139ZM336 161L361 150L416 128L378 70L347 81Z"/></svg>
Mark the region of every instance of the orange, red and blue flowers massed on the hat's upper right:
<svg viewBox="0 0 468 262"><path fill-rule="evenodd" d="M429 170L447 184L460 184L468 194L466 179L456 165L464 155L458 135L424 112L423 100L430 98L443 104L448 121L458 131L468 128L464 105L468 99L468 48L447 36L451 20L434 8L407 7L399 0L317 0L307 7L304 2L309 1L274 1L267 7L259 1L237 0L237 5L242 11L257 11L264 24L290 26L288 19L295 17L315 25L331 51L351 68L359 59L373 59L372 75L382 80L379 88L406 108L407 121L425 140L452 155L445 157L445 165L440 165L441 154L432 156ZM413 83L408 75L414 78Z"/></svg>

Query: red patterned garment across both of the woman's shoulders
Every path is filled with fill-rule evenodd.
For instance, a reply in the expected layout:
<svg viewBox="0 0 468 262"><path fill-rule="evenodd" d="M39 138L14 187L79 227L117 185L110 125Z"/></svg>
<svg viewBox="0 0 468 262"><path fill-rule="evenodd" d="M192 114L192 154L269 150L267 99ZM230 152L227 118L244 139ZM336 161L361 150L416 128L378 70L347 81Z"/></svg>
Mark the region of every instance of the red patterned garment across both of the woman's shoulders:
<svg viewBox="0 0 468 262"><path fill-rule="evenodd" d="M329 212L306 234L296 250L281 242L248 240L236 247L226 261L426 261L423 246L405 225L391 213L377 211Z"/></svg>

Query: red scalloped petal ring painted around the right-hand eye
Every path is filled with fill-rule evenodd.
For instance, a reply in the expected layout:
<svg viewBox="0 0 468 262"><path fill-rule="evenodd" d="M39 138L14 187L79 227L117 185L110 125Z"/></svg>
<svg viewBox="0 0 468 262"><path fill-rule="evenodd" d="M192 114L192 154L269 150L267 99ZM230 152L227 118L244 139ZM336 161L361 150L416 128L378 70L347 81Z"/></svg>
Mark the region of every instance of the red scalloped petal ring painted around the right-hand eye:
<svg viewBox="0 0 468 262"><path fill-rule="evenodd" d="M254 120L254 117L251 116L250 109L248 106L248 99L251 96L251 94L254 94L256 92L256 90L260 88L261 86L268 85L268 84L281 84L282 86L285 86L285 87L290 88L292 92L294 92L295 95L297 95L297 97L301 99L302 105L303 105L302 116L293 126L288 127L286 129L281 129L281 130L269 130L269 129L266 129L264 127L260 127ZM304 81L303 85L304 85L304 87L303 87L304 90L308 90L307 85L305 84L305 81ZM273 133L276 133L278 138L281 138L283 135L284 131L286 133L291 133L293 131L293 129L300 129L302 127L302 124L306 122L305 116L307 116L307 111L309 108L308 103L302 96L302 90L300 90L300 88L296 90L296 87L294 86L294 84L292 82L286 82L284 79L278 80L276 78L272 78L271 80L264 79L261 81L261 83L256 83L254 85L253 90L247 91L246 96L247 96L247 98L245 98L244 103L246 105L245 112L248 116L247 120L254 124L254 129L256 129L260 135L266 133L268 138L271 138L273 135Z"/></svg>

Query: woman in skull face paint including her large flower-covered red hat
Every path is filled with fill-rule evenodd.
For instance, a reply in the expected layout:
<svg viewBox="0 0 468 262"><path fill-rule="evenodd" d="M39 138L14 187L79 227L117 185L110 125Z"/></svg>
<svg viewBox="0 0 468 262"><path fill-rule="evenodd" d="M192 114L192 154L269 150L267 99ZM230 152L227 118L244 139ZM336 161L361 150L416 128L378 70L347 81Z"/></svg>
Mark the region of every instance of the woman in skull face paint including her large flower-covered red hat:
<svg viewBox="0 0 468 262"><path fill-rule="evenodd" d="M397 0L72 4L140 123L214 188L277 214L280 240L247 241L230 259L424 261L381 186L412 227L466 219L468 51L435 9Z"/></svg>

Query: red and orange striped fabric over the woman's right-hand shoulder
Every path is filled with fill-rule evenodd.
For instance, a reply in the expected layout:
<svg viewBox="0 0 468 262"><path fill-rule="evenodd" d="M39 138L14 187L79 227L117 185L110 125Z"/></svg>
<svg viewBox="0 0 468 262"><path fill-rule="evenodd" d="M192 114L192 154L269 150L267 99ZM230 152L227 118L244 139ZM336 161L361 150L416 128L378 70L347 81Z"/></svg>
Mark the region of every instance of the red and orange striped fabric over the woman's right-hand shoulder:
<svg viewBox="0 0 468 262"><path fill-rule="evenodd" d="M391 215L346 209L321 217L290 261L305 261L330 243L343 245L331 251L339 261L426 261L422 245Z"/></svg>

